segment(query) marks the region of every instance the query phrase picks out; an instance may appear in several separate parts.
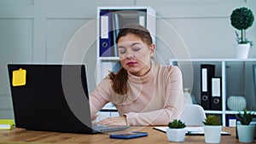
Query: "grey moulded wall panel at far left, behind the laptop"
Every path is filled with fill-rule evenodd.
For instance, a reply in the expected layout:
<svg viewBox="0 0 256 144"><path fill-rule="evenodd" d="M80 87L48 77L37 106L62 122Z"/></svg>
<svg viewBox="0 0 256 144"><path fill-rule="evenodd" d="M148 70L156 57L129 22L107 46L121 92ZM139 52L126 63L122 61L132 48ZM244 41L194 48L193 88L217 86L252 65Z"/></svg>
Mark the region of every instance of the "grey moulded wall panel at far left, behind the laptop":
<svg viewBox="0 0 256 144"><path fill-rule="evenodd" d="M0 95L9 95L7 64L32 62L32 20L0 19Z"/></svg>

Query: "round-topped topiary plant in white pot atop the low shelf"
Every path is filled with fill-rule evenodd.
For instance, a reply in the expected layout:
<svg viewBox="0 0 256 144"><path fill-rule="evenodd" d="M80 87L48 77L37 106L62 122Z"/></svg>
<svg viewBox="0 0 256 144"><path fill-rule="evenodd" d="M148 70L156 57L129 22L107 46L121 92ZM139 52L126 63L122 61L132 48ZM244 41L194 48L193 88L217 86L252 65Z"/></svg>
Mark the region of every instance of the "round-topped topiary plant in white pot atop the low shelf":
<svg viewBox="0 0 256 144"><path fill-rule="evenodd" d="M236 46L237 58L247 59L249 49L251 48L253 42L248 41L246 37L246 30L250 26L253 26L254 15L251 9L245 7L233 10L230 15L231 25L237 30L241 31L239 36L236 32L236 41L238 45Z"/></svg>

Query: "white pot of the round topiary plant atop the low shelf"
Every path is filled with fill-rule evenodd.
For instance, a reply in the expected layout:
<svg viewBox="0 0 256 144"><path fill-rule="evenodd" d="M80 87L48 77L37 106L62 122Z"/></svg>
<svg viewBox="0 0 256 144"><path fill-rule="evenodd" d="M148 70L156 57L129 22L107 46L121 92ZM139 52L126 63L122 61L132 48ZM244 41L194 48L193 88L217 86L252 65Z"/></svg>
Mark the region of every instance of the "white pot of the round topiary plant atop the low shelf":
<svg viewBox="0 0 256 144"><path fill-rule="evenodd" d="M236 56L238 59L247 59L249 49L251 47L250 43L240 43L236 45Z"/></svg>

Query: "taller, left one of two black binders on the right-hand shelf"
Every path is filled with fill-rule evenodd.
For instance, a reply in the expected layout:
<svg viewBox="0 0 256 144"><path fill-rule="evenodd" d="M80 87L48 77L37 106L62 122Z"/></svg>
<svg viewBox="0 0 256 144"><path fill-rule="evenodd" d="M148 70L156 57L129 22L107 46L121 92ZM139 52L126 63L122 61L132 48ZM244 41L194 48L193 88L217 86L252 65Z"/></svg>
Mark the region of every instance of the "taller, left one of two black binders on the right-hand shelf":
<svg viewBox="0 0 256 144"><path fill-rule="evenodd" d="M214 77L214 65L201 65L201 107L211 109L212 101L212 77Z"/></svg>

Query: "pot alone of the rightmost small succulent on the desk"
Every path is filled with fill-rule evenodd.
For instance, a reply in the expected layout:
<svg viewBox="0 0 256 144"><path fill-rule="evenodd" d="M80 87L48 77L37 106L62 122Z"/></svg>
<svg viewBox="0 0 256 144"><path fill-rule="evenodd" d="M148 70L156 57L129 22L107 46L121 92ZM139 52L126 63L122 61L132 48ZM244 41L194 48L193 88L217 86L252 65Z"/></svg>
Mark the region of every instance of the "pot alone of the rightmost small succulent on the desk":
<svg viewBox="0 0 256 144"><path fill-rule="evenodd" d="M237 124L237 135L240 142L253 142L255 124Z"/></svg>

